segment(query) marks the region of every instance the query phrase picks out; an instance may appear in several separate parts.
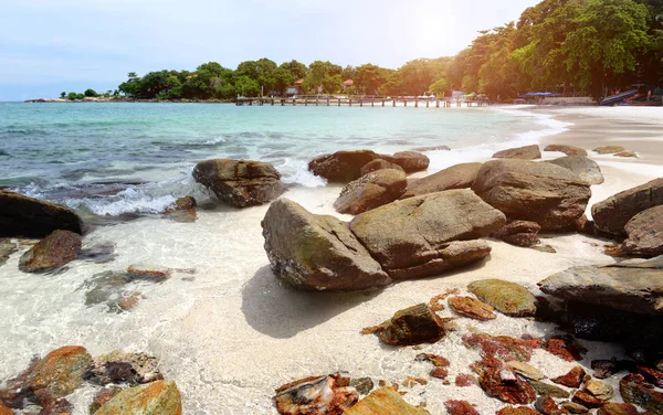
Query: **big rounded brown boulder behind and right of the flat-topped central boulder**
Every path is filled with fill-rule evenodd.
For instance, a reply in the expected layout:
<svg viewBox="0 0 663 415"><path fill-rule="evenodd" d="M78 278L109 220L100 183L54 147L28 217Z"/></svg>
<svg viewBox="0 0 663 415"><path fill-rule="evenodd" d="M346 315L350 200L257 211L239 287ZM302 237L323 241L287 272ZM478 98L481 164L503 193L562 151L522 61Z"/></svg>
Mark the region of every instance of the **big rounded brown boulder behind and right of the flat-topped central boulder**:
<svg viewBox="0 0 663 415"><path fill-rule="evenodd" d="M472 190L508 219L536 222L544 231L573 227L591 196L572 171L525 160L487 161Z"/></svg>

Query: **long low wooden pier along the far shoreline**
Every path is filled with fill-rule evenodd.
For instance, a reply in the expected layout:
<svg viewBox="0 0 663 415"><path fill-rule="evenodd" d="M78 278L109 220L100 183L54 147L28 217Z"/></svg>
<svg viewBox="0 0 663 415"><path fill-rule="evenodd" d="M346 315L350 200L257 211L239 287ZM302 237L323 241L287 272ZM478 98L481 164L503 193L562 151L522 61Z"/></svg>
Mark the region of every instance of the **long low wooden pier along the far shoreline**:
<svg viewBox="0 0 663 415"><path fill-rule="evenodd" d="M467 107L481 107L488 105L485 100L456 100L450 98L442 99L424 99L424 98L407 98L407 97L318 97L318 96L299 96L291 98L275 98L275 97L238 97L235 100L236 105L270 105L270 106L325 106L325 107L340 107L343 106L356 106L356 107L397 107L397 106L413 106L414 108L444 108L444 107L461 107L465 104Z"/></svg>

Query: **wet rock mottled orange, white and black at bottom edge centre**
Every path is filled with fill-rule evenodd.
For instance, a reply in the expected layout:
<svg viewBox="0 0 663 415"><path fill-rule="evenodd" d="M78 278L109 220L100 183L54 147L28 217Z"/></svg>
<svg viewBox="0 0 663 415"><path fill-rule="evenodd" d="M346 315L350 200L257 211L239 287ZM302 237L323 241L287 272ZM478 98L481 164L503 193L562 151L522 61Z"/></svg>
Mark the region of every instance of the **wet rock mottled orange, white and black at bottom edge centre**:
<svg viewBox="0 0 663 415"><path fill-rule="evenodd" d="M280 414L340 415L359 401L349 379L339 374L311 376L276 390L274 402Z"/></svg>

